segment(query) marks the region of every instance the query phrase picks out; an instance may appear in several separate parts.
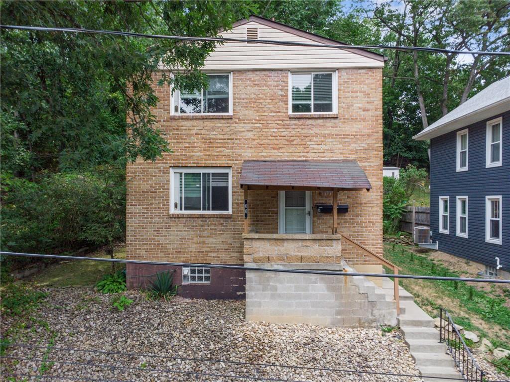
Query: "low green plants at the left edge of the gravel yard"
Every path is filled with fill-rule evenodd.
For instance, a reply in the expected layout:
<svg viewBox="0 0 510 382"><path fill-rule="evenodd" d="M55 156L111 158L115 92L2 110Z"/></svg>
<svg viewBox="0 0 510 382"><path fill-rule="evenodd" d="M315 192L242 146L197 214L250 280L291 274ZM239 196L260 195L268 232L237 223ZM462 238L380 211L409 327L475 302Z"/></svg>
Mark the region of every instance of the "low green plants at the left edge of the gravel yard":
<svg viewBox="0 0 510 382"><path fill-rule="evenodd" d="M11 316L22 316L37 308L46 293L34 290L25 284L7 284L2 291L2 312Z"/></svg>

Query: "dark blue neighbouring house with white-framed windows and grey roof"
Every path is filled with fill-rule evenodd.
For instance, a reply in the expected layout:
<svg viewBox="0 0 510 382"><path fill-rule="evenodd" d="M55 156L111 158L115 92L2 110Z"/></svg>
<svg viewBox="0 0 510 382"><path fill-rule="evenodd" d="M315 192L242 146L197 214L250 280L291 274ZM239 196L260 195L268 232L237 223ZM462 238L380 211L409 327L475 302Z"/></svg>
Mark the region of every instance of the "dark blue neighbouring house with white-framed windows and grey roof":
<svg viewBox="0 0 510 382"><path fill-rule="evenodd" d="M413 138L430 140L432 241L510 278L510 76Z"/></svg>

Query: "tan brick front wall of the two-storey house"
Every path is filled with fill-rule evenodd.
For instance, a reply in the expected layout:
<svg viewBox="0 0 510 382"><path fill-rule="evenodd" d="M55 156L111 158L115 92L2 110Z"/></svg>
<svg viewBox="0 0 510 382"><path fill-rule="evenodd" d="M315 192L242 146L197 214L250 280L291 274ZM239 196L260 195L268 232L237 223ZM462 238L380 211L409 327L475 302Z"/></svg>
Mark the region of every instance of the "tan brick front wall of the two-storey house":
<svg viewBox="0 0 510 382"><path fill-rule="evenodd" d="M339 69L338 117L289 118L288 71L233 72L233 117L171 116L170 91L158 87L158 128L173 150L156 162L127 166L127 258L200 263L243 263L243 160L356 159L372 184L370 192L339 193L349 212L338 231L382 254L381 69ZM207 118L206 118L207 117ZM169 214L172 166L232 167L233 213L219 216ZM276 233L277 192L249 192L250 225ZM313 203L331 203L316 192ZM313 233L330 233L331 214L314 215ZM352 264L371 260L342 248Z"/></svg>

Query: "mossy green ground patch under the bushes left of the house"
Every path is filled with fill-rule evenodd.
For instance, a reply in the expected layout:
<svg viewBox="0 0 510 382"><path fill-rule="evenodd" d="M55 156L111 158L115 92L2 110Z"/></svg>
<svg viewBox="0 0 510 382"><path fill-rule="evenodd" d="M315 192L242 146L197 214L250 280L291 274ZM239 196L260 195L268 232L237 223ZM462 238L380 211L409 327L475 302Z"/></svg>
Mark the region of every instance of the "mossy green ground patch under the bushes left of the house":
<svg viewBox="0 0 510 382"><path fill-rule="evenodd" d="M125 247L115 250L116 259L125 259ZM90 257L108 258L103 252L95 252ZM115 269L124 269L124 264L115 264ZM92 286L101 280L105 274L112 270L111 263L91 260L65 260L57 264L49 265L41 270L32 280L38 285L44 286Z"/></svg>

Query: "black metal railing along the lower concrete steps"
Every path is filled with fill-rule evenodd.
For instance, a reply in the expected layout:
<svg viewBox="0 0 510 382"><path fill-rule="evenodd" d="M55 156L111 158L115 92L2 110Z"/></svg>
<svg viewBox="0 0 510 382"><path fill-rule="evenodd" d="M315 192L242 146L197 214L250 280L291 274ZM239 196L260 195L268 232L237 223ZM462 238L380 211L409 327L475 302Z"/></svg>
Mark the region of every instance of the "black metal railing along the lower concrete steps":
<svg viewBox="0 0 510 382"><path fill-rule="evenodd" d="M458 370L466 381L483 382L483 376L487 373L480 369L471 353L471 350L464 342L461 333L458 331L448 311L443 308L439 311L439 342L445 342L449 353Z"/></svg>

